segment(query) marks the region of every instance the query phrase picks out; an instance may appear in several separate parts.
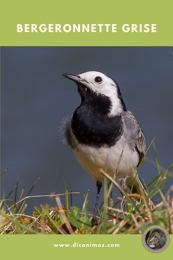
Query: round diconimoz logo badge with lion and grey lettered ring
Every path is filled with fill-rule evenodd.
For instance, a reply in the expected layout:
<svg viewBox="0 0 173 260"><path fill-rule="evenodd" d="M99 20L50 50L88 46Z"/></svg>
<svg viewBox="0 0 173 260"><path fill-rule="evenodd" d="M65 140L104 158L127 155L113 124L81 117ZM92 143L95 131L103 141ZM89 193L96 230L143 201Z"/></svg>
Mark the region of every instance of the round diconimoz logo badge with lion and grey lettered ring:
<svg viewBox="0 0 173 260"><path fill-rule="evenodd" d="M142 234L142 244L151 253L161 253L165 251L170 243L168 231L159 225L148 227Z"/></svg>

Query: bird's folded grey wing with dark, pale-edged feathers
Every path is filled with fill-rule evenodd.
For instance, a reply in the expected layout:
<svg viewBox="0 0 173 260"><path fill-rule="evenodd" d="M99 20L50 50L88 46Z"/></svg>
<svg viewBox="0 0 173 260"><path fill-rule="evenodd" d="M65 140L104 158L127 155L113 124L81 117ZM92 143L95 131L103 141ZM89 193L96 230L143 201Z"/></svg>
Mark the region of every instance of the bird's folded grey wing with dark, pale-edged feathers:
<svg viewBox="0 0 173 260"><path fill-rule="evenodd" d="M146 149L146 144L145 144L145 137L144 134L142 132L142 129L139 125L139 123L137 122L136 118L134 117L134 115L131 113L131 111L127 111L126 112L126 116L131 119L133 121L133 123L135 124L135 129L136 129L136 140L135 140L135 149L139 154L139 162L138 165L141 163L144 155L145 155L145 149ZM137 165L137 166L138 166Z"/></svg>

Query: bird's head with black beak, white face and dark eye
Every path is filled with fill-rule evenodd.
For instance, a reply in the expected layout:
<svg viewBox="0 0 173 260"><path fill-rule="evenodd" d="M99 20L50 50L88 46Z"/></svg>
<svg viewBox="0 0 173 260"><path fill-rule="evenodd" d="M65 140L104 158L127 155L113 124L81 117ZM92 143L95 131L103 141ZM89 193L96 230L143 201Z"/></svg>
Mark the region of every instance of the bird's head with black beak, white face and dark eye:
<svg viewBox="0 0 173 260"><path fill-rule="evenodd" d="M77 84L82 100L91 100L91 97L92 100L93 97L97 100L98 97L100 97L100 100L104 100L102 97L109 99L111 103L109 116L112 117L120 114L122 110L126 110L119 86L109 76L97 71L88 71L79 75L65 73L61 75L73 80Z"/></svg>

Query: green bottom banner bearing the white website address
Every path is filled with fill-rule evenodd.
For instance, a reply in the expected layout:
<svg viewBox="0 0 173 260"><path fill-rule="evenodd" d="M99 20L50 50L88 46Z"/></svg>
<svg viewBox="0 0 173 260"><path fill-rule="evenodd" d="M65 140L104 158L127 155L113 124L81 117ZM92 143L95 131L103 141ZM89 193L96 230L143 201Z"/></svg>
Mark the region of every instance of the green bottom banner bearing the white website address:
<svg viewBox="0 0 173 260"><path fill-rule="evenodd" d="M2 239L3 238L3 239ZM173 235L171 235L171 240ZM9 247L7 251L7 245ZM172 247L151 254L142 246L141 235L5 235L1 236L1 255L10 252L14 259L60 258L126 258L163 259L170 257Z"/></svg>

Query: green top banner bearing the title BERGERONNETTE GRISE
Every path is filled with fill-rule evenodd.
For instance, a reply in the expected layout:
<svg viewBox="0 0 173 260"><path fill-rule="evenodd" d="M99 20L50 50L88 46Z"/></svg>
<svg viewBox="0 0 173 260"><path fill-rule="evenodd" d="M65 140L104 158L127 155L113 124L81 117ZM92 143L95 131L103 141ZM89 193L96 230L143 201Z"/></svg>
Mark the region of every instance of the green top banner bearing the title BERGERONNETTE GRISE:
<svg viewBox="0 0 173 260"><path fill-rule="evenodd" d="M170 46L172 2L4 1L1 46Z"/></svg>

